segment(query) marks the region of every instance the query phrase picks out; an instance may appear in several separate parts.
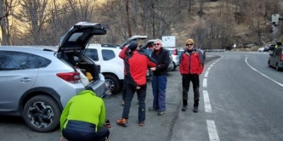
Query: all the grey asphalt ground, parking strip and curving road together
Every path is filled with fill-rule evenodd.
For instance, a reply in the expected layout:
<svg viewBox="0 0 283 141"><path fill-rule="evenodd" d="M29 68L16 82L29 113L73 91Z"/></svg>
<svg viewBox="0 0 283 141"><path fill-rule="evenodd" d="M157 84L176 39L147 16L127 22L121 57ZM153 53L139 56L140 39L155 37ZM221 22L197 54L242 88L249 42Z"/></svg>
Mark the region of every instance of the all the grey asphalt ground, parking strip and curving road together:
<svg viewBox="0 0 283 141"><path fill-rule="evenodd" d="M105 99L112 123L110 139L120 140L283 140L283 72L267 66L268 54L224 52L205 64L200 75L200 112L180 111L181 81L176 71L168 73L166 114L146 111L146 124L137 124L137 97L132 101L129 126L115 121L122 116L121 94ZM209 59L209 57L207 58ZM146 107L152 102L148 83ZM192 89L189 94L192 107ZM21 118L0 116L0 141L59 140L59 130L35 133Z"/></svg>

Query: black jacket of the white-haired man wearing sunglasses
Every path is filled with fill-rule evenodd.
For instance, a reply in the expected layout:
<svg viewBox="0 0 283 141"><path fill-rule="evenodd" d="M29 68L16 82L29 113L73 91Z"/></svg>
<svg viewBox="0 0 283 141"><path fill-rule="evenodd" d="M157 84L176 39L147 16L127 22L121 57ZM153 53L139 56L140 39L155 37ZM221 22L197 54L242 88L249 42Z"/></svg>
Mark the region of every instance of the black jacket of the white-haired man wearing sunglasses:
<svg viewBox="0 0 283 141"><path fill-rule="evenodd" d="M167 73L167 68L170 63L169 53L167 49L161 48L161 51L157 53L154 50L151 54L151 58L155 59L156 64L156 71L153 71L154 75L163 75Z"/></svg>

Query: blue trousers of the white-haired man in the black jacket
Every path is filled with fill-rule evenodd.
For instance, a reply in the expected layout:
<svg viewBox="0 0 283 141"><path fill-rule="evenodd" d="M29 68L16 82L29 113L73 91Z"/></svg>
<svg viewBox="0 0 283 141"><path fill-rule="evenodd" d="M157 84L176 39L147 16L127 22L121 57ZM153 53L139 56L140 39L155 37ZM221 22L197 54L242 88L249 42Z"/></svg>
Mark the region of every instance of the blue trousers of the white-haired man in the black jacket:
<svg viewBox="0 0 283 141"><path fill-rule="evenodd" d="M154 94L153 107L159 111L166 110L166 75L152 75L152 94Z"/></svg>

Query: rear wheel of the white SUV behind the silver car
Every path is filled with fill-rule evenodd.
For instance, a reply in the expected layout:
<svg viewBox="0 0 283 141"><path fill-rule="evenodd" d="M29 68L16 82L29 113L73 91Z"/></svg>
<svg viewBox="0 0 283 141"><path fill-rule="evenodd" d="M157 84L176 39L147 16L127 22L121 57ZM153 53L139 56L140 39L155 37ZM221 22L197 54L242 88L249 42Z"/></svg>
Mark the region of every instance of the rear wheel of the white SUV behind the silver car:
<svg viewBox="0 0 283 141"><path fill-rule="evenodd" d="M108 84L108 87L112 94L117 94L119 91L119 80L113 75L104 75L105 82Z"/></svg>

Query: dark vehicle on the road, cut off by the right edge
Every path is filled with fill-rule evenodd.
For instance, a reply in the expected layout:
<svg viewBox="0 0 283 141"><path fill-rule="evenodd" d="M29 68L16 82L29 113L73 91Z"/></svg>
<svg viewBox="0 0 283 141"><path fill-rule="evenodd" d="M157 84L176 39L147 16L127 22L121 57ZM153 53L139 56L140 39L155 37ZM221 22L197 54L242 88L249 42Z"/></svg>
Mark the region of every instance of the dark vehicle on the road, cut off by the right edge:
<svg viewBox="0 0 283 141"><path fill-rule="evenodd" d="M282 70L283 68L283 46L277 47L272 54L270 54L270 58L268 59L268 66L275 67L277 71Z"/></svg>

